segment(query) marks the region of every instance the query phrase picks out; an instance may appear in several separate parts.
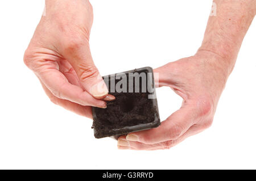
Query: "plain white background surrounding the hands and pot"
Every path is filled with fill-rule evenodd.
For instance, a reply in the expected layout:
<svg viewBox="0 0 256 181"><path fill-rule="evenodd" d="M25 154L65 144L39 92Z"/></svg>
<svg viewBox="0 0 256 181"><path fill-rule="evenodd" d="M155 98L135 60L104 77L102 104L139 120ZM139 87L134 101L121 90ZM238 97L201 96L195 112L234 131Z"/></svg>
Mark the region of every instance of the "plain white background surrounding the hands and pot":
<svg viewBox="0 0 256 181"><path fill-rule="evenodd" d="M212 1L92 0L90 45L102 75L193 55ZM251 24L211 128L170 150L118 150L92 120L52 104L23 64L44 1L0 1L0 169L256 169L256 22ZM157 90L160 118L181 105Z"/></svg>

